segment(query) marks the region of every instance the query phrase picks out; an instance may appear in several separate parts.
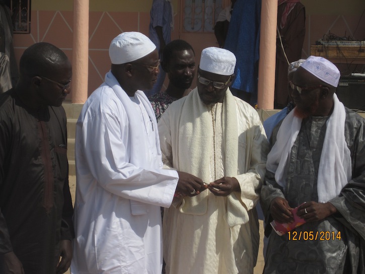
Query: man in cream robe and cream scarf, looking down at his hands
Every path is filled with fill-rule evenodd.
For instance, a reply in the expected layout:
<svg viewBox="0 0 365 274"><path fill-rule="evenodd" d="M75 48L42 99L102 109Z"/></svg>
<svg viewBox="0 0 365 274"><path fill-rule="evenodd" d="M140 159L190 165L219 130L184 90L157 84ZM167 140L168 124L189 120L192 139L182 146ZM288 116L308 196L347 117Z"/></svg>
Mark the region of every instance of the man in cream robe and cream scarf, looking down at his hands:
<svg viewBox="0 0 365 274"><path fill-rule="evenodd" d="M197 88L173 102L158 123L164 164L208 189L177 193L165 209L167 273L252 273L256 264L255 205L268 142L256 110L228 88L235 64L226 49L204 49Z"/></svg>

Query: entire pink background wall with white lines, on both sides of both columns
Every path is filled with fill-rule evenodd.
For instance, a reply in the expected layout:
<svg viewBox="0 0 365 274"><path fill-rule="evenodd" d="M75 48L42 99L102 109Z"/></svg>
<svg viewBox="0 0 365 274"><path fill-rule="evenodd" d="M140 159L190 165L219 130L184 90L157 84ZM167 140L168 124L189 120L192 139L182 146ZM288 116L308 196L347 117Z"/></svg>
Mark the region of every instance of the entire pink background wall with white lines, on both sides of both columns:
<svg viewBox="0 0 365 274"><path fill-rule="evenodd" d="M327 1L327 0L324 0ZM174 3L175 28L172 39L185 39L192 44L196 53L196 63L199 63L200 52L207 46L216 46L213 33L186 33L181 31L180 14L181 0ZM148 2L151 5L152 1ZM323 37L324 34L335 33L338 36L354 35L356 39L365 40L365 16L360 20L361 13L365 9L365 2L354 0L346 2L346 6L355 5L346 14L341 15L341 9L328 12L329 6L316 9L309 0L303 0L307 8L307 33L303 47L303 57L310 54L310 45ZM351 4L354 3L354 4ZM338 6L338 5L337 5ZM31 33L15 34L14 45L16 58L19 58L24 49L36 42L49 42L60 47L67 56L72 59L72 28L73 13L67 9L62 11L32 10ZM333 10L334 8L332 8ZM118 10L118 9L116 9ZM93 92L104 80L105 73L109 71L110 60L108 48L110 41L123 31L140 31L148 35L150 22L149 8L141 11L115 12L115 11L91 11L89 20L89 94ZM356 25L358 25L356 32ZM166 81L167 82L167 81ZM165 82L165 84L166 84ZM195 82L193 84L195 86ZM72 93L71 93L72 94ZM71 94L69 96L71 96ZM70 97L67 98L70 100Z"/></svg>

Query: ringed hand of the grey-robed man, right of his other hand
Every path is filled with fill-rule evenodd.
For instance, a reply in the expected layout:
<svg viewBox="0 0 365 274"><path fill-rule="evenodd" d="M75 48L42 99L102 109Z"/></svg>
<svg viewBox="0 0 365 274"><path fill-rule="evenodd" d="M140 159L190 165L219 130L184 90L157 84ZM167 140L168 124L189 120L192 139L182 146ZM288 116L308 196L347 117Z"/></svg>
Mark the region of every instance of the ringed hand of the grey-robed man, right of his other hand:
<svg viewBox="0 0 365 274"><path fill-rule="evenodd" d="M306 222L315 222L321 221L336 212L337 209L330 202L320 203L310 201L302 204L298 208L297 215L306 220Z"/></svg>

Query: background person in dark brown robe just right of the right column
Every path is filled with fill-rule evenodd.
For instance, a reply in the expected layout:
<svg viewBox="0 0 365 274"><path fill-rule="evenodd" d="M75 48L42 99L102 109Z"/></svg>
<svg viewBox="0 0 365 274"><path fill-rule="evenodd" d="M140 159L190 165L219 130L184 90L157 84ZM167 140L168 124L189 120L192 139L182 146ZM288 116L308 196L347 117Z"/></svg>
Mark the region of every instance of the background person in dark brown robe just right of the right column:
<svg viewBox="0 0 365 274"><path fill-rule="evenodd" d="M302 57L306 35L305 23L306 9L300 0L278 1L277 30L279 33L276 40L275 108L284 108L290 102L287 94L287 69L289 63Z"/></svg>

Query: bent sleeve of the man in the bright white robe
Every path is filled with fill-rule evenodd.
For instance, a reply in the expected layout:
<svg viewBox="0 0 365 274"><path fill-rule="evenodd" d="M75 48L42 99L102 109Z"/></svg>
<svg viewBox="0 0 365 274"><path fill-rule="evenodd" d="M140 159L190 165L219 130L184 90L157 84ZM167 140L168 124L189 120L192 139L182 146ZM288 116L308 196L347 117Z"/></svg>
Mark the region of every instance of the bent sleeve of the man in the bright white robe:
<svg viewBox="0 0 365 274"><path fill-rule="evenodd" d="M129 163L131 153L151 157L149 152L128 151L130 135L126 113L113 104L97 115L87 112L77 124L77 145L85 167L105 190L131 200L169 207L178 182L173 170L163 170L156 157L150 167Z"/></svg>

